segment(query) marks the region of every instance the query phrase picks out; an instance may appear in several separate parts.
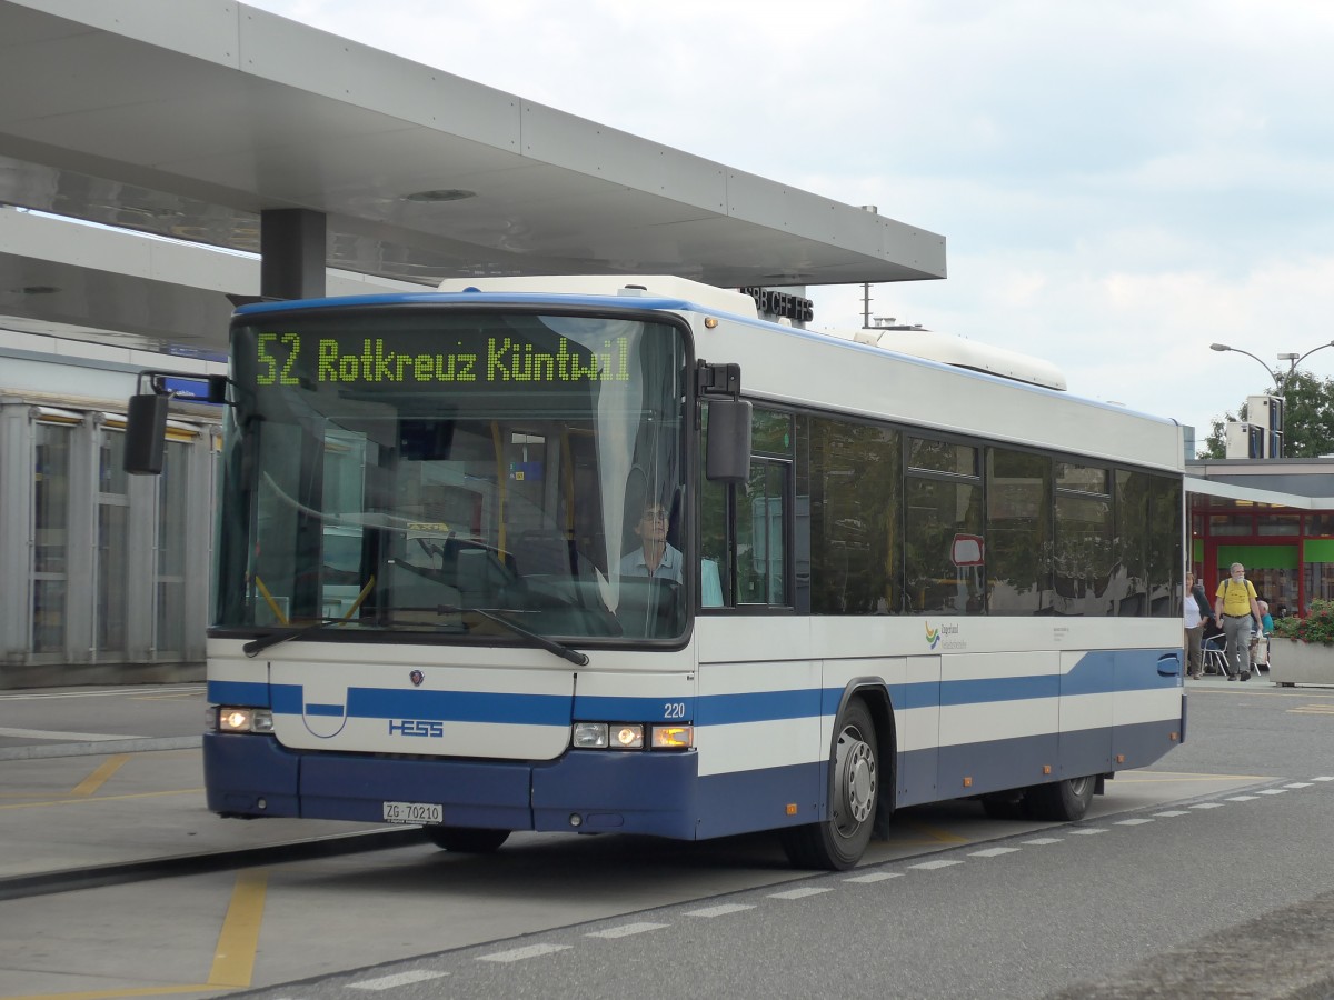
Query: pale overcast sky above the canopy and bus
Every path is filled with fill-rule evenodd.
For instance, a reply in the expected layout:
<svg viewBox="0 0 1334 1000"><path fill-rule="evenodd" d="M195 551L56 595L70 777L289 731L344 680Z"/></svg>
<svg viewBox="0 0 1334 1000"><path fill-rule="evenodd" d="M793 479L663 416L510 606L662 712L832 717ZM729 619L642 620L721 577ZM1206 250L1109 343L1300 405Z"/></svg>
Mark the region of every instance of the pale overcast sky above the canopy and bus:
<svg viewBox="0 0 1334 1000"><path fill-rule="evenodd" d="M947 239L871 312L1197 427L1334 340L1329 0L248 0ZM862 287L811 289L858 327ZM1302 363L1334 375L1334 348Z"/></svg>

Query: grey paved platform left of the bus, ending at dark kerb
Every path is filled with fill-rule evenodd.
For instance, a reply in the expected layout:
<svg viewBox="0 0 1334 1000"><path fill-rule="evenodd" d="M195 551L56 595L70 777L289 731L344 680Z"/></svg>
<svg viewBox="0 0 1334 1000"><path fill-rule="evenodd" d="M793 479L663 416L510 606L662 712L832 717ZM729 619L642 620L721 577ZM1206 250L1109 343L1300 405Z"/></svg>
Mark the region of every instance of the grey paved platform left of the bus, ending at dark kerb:
<svg viewBox="0 0 1334 1000"><path fill-rule="evenodd" d="M0 897L420 837L208 812L204 704L201 684L0 692Z"/></svg>

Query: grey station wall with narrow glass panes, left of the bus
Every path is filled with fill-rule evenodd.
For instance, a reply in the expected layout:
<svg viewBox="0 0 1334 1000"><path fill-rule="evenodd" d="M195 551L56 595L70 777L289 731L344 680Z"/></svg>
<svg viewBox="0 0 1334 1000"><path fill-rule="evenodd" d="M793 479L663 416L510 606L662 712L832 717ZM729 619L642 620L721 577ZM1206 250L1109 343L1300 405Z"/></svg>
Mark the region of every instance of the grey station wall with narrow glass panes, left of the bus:
<svg viewBox="0 0 1334 1000"><path fill-rule="evenodd" d="M123 415L0 400L0 688L203 677L216 433L127 476Z"/></svg>

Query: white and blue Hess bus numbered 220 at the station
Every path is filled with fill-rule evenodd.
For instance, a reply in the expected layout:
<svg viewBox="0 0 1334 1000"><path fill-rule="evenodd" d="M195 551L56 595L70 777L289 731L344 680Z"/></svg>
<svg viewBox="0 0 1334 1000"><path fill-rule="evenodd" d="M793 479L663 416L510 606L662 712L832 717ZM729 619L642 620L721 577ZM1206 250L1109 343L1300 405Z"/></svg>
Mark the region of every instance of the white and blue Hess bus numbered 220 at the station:
<svg viewBox="0 0 1334 1000"><path fill-rule="evenodd" d="M456 288L233 319L212 811L842 869L1182 739L1173 421L678 279Z"/></svg>

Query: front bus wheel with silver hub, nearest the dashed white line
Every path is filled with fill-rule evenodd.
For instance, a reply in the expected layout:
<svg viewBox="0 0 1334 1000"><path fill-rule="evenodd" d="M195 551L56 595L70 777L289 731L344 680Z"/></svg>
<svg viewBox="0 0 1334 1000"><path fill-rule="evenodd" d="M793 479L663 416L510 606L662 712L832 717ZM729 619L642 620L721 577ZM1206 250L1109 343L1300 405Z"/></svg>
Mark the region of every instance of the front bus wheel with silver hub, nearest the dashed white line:
<svg viewBox="0 0 1334 1000"><path fill-rule="evenodd" d="M880 795L880 761L875 721L860 699L848 701L835 729L830 817L782 831L783 851L794 868L846 872L871 841Z"/></svg>

